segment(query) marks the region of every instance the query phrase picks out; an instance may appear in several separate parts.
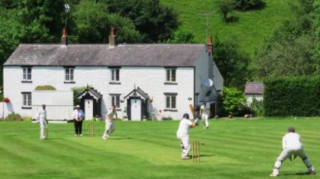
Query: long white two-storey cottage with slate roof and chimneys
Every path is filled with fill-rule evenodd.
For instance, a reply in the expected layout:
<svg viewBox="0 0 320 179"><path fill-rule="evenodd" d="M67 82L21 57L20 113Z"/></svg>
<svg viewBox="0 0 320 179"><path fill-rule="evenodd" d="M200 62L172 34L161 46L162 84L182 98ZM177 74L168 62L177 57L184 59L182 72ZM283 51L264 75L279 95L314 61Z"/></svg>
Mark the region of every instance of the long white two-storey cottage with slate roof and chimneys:
<svg viewBox="0 0 320 179"><path fill-rule="evenodd" d="M91 86L78 96L86 118L104 117L112 104L119 117L141 121L179 119L189 104L211 104L223 78L212 60L212 39L205 44L20 44L4 63L4 96L8 112L33 116L36 86L58 91ZM213 82L211 85L209 82Z"/></svg>

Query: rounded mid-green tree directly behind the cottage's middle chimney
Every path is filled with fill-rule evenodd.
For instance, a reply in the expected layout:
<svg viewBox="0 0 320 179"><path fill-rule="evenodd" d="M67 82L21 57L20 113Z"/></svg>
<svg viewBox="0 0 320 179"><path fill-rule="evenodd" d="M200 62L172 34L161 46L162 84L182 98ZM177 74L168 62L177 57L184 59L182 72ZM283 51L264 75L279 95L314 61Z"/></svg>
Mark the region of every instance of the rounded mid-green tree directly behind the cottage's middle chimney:
<svg viewBox="0 0 320 179"><path fill-rule="evenodd" d="M141 35L136 31L133 22L118 14L109 14L106 4L103 3L81 1L71 18L75 21L79 43L108 42L111 27L116 29L119 42L141 41Z"/></svg>

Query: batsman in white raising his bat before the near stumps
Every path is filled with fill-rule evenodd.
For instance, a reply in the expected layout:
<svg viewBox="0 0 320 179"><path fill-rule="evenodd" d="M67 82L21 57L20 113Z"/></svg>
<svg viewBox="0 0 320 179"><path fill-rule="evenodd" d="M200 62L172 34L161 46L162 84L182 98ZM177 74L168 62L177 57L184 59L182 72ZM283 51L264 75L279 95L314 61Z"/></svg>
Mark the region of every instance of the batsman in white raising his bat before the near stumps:
<svg viewBox="0 0 320 179"><path fill-rule="evenodd" d="M187 113L184 114L182 120L179 123L178 131L176 131L176 137L181 140L182 160L190 159L188 156L189 150L191 148L191 146L189 145L189 128L193 128L197 123L198 121L194 121L194 123L192 123L189 120L189 114Z"/></svg>

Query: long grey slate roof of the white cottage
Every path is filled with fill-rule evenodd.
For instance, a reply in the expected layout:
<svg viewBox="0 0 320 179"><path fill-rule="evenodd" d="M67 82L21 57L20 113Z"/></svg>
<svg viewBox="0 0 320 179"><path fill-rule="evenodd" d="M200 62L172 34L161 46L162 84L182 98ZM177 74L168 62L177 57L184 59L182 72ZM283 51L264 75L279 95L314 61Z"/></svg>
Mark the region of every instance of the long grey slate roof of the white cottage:
<svg viewBox="0 0 320 179"><path fill-rule="evenodd" d="M4 66L195 66L205 44L20 44Z"/></svg>

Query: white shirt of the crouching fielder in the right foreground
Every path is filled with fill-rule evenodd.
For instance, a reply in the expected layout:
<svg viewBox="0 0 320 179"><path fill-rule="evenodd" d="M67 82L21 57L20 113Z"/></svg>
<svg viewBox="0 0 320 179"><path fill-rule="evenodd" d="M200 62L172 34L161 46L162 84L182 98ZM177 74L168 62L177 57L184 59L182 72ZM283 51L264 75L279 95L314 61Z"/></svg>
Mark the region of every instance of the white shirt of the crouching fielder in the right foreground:
<svg viewBox="0 0 320 179"><path fill-rule="evenodd" d="M287 133L282 138L282 148L290 150L298 150L303 147L300 141L300 135L297 133Z"/></svg>

